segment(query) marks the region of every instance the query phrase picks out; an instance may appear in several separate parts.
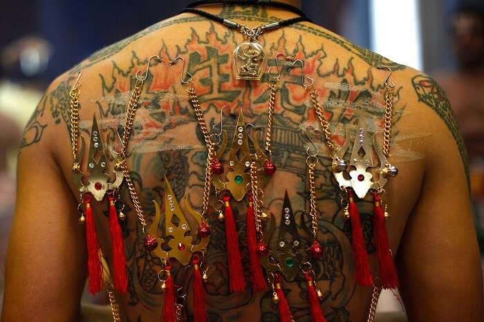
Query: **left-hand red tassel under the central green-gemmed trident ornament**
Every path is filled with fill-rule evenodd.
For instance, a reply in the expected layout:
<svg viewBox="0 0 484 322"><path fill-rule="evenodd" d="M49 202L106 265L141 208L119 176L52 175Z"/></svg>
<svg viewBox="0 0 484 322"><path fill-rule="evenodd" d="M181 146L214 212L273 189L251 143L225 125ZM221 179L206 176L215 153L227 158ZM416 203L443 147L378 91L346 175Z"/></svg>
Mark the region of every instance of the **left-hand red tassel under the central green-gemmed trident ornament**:
<svg viewBox="0 0 484 322"><path fill-rule="evenodd" d="M245 290L241 251L239 249L239 236L235 227L234 213L230 207L230 195L222 196L225 205L225 236L227 238L227 257L230 275L230 292L241 293Z"/></svg>

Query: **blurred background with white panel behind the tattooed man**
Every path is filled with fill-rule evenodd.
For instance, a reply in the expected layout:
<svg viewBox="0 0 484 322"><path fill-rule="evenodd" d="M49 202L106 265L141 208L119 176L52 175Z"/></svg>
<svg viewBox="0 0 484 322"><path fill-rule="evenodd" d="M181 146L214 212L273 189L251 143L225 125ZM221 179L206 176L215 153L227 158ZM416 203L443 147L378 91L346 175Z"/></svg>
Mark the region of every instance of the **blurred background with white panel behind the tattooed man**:
<svg viewBox="0 0 484 322"><path fill-rule="evenodd" d="M176 15L189 2L1 1L0 310L15 158L21 129L43 91L91 53ZM425 71L447 91L469 149L476 229L484 252L484 96L467 85L484 84L484 1L302 0L302 9L315 23L356 44ZM401 312L392 294L384 298L380 312Z"/></svg>

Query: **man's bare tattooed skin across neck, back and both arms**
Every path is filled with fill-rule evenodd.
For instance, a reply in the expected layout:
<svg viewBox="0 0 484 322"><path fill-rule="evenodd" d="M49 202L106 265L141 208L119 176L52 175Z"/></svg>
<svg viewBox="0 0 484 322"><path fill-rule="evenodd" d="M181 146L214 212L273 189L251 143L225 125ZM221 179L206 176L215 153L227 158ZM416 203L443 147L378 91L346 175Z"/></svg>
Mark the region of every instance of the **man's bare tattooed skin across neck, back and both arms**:
<svg viewBox="0 0 484 322"><path fill-rule="evenodd" d="M294 17L274 8L204 9L248 26L272 21L272 17ZM84 140L89 140L95 113L104 142L113 142L116 126L124 122L133 88L131 77L138 70L145 70L151 55L160 55L165 64L177 55L185 57L207 124L220 122L223 105L232 108L224 119L231 140L240 109L245 122L255 125L265 125L267 116L266 82L248 83L232 76L232 50L242 39L241 34L218 23L182 14L104 48L49 86L26 127L19 153L17 209L8 253L2 321L78 319L86 281L86 247L84 227L77 224L79 193L71 180L68 92L80 70ZM387 230L409 321L484 321L467 157L454 114L440 86L417 70L393 63L313 23L266 32L260 40L271 59L279 51L304 59L304 73L315 79L337 146L343 144L346 128L350 133L357 128L359 115L366 118L370 127L381 131L388 70L380 68L393 70L391 81L396 94L390 160L400 175L385 187L385 200L391 213ZM180 84L181 65L169 70L161 64L151 67L130 141L129 169L149 222L154 216L151 200L160 203L164 198L165 175L177 200L187 193L194 207L200 209L201 205L206 149L185 88ZM272 149L278 170L266 187L264 205L277 222L286 189L296 220L301 211L308 211L304 128L312 125L321 129L308 104L308 94L299 84L298 73L295 70L281 77L275 108ZM325 294L322 309L328 321L366 321L372 290L355 284L349 226L337 202L339 190L331 180L331 160L324 142L317 146L318 238L326 255L315 265L315 272L317 284ZM131 206L125 187L122 196ZM215 201L212 198L212 205ZM378 272L371 238L373 203L366 198L357 205L372 272ZM94 207L100 245L111 265L109 222L102 216L106 203ZM245 202L234 202L232 207L239 227L245 278L249 281ZM205 292L210 321L278 321L269 287L254 294L248 286L243 294L230 294L223 225L215 216L209 222L212 236L206 261L211 268ZM163 295L156 275L161 260L144 249L144 234L133 210L128 212L125 225L129 290L127 294L117 294L123 319L159 321ZM302 224L299 234L306 240L310 238ZM177 283L187 283L184 272L175 270ZM304 287L300 281L284 283L296 321L310 321ZM191 298L188 303L185 314L192 318Z"/></svg>

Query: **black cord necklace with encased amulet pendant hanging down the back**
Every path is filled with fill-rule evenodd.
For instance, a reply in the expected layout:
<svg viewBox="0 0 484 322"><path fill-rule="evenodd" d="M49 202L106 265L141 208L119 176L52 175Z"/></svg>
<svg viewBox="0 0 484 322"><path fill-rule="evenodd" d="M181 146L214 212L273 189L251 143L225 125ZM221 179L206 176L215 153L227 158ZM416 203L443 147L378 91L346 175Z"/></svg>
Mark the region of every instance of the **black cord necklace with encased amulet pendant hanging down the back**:
<svg viewBox="0 0 484 322"><path fill-rule="evenodd" d="M276 21L272 23L267 23L254 28L248 28L247 26L236 23L235 21L224 19L223 17L218 17L212 15L210 12L196 9L196 6L202 6L205 4L253 4L260 6L272 6L276 8L283 8L296 13L299 17L290 18L282 21ZM288 3L282 3L279 1L258 1L258 0L234 0L234 1L195 1L190 3L187 8L183 9L182 12L191 12L196 15L201 15L207 19L223 23L225 26L238 30L245 39L236 46L234 49L233 59L232 59L232 70L234 72L234 77L236 79L248 79L248 80L259 80L261 79L264 71L266 70L266 50L263 48L262 44L257 41L257 37L262 35L263 32L268 30L274 30L284 26L290 26L292 23L297 23L301 21L311 20L304 15L304 12L291 6Z"/></svg>

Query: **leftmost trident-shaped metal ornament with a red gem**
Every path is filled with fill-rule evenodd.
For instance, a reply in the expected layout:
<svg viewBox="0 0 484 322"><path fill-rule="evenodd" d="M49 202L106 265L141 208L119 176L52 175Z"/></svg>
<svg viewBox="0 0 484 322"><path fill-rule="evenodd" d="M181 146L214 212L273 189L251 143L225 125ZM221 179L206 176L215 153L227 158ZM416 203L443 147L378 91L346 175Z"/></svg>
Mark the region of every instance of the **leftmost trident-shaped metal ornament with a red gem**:
<svg viewBox="0 0 484 322"><path fill-rule="evenodd" d="M82 160L86 144L81 138L82 146L78 160ZM124 178L122 171L113 170L114 180L111 182L109 176L109 162L106 157L102 136L97 126L95 115L89 138L89 156L86 165L86 173L82 171L73 172L73 181L81 193L91 192L97 201L101 201L109 189L117 189ZM114 155L113 155L114 158ZM86 182L86 183L84 183Z"/></svg>

